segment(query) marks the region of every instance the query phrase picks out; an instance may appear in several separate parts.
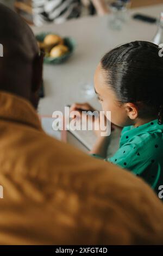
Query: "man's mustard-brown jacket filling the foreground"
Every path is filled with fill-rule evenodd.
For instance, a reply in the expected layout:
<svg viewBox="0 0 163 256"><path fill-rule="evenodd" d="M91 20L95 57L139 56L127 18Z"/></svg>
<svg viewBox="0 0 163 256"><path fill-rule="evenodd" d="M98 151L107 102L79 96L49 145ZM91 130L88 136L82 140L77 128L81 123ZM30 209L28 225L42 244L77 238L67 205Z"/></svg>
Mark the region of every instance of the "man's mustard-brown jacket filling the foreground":
<svg viewBox="0 0 163 256"><path fill-rule="evenodd" d="M0 244L163 243L163 205L141 179L42 131L0 93Z"/></svg>

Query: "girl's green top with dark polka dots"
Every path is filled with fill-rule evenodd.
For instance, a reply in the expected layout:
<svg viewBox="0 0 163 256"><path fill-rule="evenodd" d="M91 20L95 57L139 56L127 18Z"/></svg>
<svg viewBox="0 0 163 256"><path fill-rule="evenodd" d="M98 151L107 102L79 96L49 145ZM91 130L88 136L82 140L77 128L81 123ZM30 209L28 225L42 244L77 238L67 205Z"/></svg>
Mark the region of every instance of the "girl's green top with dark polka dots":
<svg viewBox="0 0 163 256"><path fill-rule="evenodd" d="M144 179L156 192L163 185L163 124L158 120L123 128L120 148L105 159Z"/></svg>

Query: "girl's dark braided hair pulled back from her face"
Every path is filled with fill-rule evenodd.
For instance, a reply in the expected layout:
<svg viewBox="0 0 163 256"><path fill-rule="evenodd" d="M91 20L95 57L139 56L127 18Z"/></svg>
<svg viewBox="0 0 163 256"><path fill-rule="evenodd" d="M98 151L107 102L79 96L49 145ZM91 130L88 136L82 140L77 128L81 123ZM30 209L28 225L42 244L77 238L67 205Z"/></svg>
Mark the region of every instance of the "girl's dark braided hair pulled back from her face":
<svg viewBox="0 0 163 256"><path fill-rule="evenodd" d="M163 57L159 46L134 41L118 46L101 60L106 83L121 103L139 108L139 117L156 117L163 123Z"/></svg>

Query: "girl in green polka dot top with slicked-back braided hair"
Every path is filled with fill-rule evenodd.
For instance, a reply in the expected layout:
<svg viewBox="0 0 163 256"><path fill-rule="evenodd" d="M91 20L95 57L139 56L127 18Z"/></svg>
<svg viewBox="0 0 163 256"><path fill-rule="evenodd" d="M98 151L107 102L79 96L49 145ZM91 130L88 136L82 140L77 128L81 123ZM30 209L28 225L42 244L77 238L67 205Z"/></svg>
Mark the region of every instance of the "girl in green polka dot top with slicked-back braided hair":
<svg viewBox="0 0 163 256"><path fill-rule="evenodd" d="M103 111L122 127L120 147L108 158L108 137L91 153L140 176L159 192L163 185L163 57L152 42L134 41L106 53L95 72ZM90 105L73 105L89 110ZM96 132L97 133L97 132Z"/></svg>

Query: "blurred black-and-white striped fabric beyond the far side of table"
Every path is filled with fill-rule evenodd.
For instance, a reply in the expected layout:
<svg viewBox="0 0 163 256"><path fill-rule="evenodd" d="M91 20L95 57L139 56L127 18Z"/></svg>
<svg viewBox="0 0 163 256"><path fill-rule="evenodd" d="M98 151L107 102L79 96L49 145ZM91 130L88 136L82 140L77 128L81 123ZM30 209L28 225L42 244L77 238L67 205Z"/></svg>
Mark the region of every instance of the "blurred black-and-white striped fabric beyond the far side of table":
<svg viewBox="0 0 163 256"><path fill-rule="evenodd" d="M44 23L61 23L80 16L80 0L32 0L33 21L36 26Z"/></svg>

